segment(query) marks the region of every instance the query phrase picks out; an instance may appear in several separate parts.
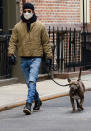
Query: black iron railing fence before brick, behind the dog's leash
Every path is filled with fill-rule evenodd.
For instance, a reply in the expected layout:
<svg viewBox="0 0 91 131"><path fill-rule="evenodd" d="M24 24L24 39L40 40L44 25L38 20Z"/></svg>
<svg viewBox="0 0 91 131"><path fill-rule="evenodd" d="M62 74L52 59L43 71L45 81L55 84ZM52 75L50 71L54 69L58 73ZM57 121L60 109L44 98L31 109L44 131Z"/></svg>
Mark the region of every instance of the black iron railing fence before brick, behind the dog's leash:
<svg viewBox="0 0 91 131"><path fill-rule="evenodd" d="M49 37L53 51L53 66L63 72L91 68L91 33L76 29L49 27ZM54 68L55 69L55 68Z"/></svg>

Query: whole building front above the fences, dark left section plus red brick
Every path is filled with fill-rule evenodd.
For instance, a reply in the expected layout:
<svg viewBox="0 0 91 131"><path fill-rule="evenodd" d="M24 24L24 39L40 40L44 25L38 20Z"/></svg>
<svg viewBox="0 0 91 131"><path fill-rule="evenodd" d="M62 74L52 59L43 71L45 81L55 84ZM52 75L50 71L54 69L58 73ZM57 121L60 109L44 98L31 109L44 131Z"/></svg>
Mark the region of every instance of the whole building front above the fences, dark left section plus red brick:
<svg viewBox="0 0 91 131"><path fill-rule="evenodd" d="M0 0L0 29L13 28L25 2L35 5L38 19L47 26L79 28L91 23L91 0Z"/></svg>

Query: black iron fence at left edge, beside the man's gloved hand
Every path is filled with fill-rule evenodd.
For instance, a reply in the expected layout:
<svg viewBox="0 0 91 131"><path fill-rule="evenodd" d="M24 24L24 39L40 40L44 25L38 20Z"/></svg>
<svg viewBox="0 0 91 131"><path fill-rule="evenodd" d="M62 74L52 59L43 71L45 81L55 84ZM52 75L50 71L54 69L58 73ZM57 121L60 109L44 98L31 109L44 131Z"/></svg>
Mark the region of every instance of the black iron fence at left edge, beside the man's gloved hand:
<svg viewBox="0 0 91 131"><path fill-rule="evenodd" d="M8 42L10 35L0 34L0 79L11 77L11 66L8 64Z"/></svg>

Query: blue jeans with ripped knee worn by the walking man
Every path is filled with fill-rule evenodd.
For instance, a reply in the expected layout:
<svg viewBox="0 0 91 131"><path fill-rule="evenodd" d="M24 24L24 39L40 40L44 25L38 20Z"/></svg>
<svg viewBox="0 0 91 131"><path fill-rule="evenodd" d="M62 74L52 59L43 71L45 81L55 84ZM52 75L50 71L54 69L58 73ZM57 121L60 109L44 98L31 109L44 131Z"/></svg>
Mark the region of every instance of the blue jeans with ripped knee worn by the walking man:
<svg viewBox="0 0 91 131"><path fill-rule="evenodd" d="M24 74L28 87L26 102L31 103L39 100L39 94L36 90L41 58L21 58L21 69Z"/></svg>

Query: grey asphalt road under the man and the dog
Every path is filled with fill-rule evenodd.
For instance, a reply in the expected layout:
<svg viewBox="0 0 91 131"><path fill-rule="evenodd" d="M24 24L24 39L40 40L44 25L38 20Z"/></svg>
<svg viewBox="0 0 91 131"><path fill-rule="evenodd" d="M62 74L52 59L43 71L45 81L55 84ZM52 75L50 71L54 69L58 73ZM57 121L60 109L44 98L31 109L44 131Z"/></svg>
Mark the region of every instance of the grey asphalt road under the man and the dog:
<svg viewBox="0 0 91 131"><path fill-rule="evenodd" d="M84 111L72 113L69 96L43 102L39 112L25 115L23 106L0 112L0 131L91 131L91 92Z"/></svg>

